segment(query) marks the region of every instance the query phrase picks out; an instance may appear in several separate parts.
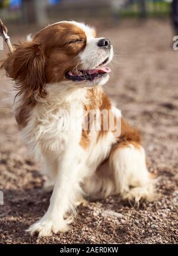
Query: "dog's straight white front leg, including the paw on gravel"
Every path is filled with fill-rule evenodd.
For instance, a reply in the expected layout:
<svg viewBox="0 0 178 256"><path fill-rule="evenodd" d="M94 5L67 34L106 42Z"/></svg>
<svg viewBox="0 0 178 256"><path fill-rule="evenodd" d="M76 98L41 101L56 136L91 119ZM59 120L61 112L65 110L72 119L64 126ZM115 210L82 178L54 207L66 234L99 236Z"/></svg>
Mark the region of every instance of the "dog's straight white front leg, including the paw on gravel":
<svg viewBox="0 0 178 256"><path fill-rule="evenodd" d="M71 218L64 219L68 211L75 211L75 202L81 194L81 170L83 166L78 159L78 152L74 148L66 150L62 161L58 164L58 174L55 187L50 198L50 205L45 214L39 221L28 229L33 235L50 236L52 233L68 230ZM82 171L83 172L83 171Z"/></svg>

